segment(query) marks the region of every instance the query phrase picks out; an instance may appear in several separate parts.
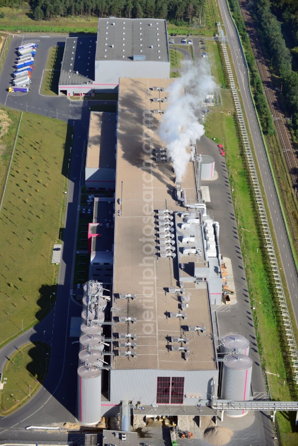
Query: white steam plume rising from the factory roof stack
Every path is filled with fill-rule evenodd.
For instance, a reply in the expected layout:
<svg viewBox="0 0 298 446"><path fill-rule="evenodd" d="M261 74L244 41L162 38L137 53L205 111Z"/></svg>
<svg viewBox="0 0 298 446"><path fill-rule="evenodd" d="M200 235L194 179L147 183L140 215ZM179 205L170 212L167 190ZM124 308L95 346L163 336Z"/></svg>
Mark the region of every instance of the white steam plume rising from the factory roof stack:
<svg viewBox="0 0 298 446"><path fill-rule="evenodd" d="M207 62L200 61L199 67L191 62L184 64L184 73L168 88L168 106L159 126L159 136L167 147L180 182L189 162L189 144L204 134L204 127L198 122L201 101L214 91L216 84L210 75Z"/></svg>

